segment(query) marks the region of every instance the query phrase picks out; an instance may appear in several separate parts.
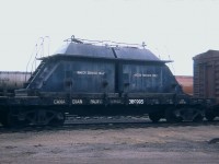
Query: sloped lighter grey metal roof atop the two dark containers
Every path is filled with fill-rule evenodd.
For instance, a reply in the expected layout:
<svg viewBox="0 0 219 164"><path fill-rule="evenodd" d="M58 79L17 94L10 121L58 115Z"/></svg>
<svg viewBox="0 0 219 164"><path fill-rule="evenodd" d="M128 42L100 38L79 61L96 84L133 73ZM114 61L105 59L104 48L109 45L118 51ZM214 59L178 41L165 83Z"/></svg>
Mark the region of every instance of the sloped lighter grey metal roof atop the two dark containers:
<svg viewBox="0 0 219 164"><path fill-rule="evenodd" d="M66 44L55 55L165 62L146 48L95 46L78 43Z"/></svg>

